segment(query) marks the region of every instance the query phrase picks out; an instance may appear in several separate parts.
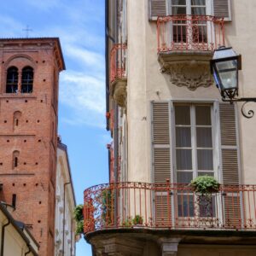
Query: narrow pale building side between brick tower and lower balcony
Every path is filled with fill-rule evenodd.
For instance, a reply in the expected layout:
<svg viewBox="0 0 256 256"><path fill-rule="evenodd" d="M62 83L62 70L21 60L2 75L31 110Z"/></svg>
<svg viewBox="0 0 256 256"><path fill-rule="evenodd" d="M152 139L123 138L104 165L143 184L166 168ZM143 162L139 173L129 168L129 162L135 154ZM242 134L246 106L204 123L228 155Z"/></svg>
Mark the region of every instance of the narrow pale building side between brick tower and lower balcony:
<svg viewBox="0 0 256 256"><path fill-rule="evenodd" d="M55 196L55 256L75 255L76 222L73 210L76 201L69 166L67 146L59 140L57 148Z"/></svg>

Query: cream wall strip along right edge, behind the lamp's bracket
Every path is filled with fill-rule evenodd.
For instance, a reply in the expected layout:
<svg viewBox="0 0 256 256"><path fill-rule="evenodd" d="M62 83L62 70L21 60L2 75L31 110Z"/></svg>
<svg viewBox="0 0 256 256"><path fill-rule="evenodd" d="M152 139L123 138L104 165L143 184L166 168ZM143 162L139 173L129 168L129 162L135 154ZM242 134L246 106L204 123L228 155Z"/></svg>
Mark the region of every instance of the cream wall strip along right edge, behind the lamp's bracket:
<svg viewBox="0 0 256 256"><path fill-rule="evenodd" d="M227 42L237 53L241 54L240 90L241 97L256 97L256 2L253 0L233 0L232 21L225 26ZM249 103L256 113L256 104ZM241 104L239 109L241 108ZM255 145L256 116L245 119L240 115L240 146L242 182L255 184Z"/></svg>

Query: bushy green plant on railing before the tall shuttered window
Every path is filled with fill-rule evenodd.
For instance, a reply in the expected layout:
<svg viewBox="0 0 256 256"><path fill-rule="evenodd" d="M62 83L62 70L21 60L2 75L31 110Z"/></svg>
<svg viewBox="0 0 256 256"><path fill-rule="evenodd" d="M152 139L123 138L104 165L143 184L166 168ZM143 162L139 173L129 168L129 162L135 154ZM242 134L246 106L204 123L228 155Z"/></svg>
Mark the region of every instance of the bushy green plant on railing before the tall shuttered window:
<svg viewBox="0 0 256 256"><path fill-rule="evenodd" d="M195 193L200 193L201 195L207 195L212 193L217 193L219 190L220 183L212 176L199 176L195 177L189 186L195 191Z"/></svg>

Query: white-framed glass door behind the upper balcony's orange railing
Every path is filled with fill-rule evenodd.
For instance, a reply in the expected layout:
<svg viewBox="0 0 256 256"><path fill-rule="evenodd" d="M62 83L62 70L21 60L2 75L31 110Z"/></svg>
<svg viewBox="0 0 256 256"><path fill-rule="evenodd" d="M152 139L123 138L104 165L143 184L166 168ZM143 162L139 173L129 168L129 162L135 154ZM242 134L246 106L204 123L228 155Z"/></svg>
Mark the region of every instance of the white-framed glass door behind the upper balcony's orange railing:
<svg viewBox="0 0 256 256"><path fill-rule="evenodd" d="M171 44L177 49L201 49L211 40L212 23L207 15L212 14L210 0L170 0L169 24ZM174 47L175 48L175 47Z"/></svg>

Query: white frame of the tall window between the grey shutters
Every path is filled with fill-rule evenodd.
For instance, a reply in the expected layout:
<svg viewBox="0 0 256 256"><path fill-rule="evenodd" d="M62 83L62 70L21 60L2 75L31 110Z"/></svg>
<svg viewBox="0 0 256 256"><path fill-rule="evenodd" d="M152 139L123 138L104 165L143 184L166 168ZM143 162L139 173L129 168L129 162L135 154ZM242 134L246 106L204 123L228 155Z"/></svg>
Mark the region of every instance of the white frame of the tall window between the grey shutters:
<svg viewBox="0 0 256 256"><path fill-rule="evenodd" d="M220 178L222 177L221 173L220 173L220 165L221 165L221 141L220 141L220 129L219 129L219 117L218 117L218 102L216 101L207 101L207 100L198 100L198 101L186 101L186 100L173 100L171 101L171 116L170 116L170 121L171 121L171 136L170 136L170 151L171 151L171 161L172 161L172 165L171 165L171 177L172 177L172 181L173 183L177 183L177 164L176 164L176 122L175 122L175 106L189 106L189 117L190 117L190 127L191 127L191 159L192 159L192 176L193 178L198 176L198 170L197 170L197 155L195 154L197 151L197 147L196 147L196 125L195 125L195 106L211 106L211 127L212 127L212 165L213 165L213 177L215 177L218 182L220 181ZM191 108L192 107L192 108ZM194 110L193 110L194 109ZM193 115L193 117L191 117L191 114ZM194 137L193 137L194 136ZM194 142L193 142L194 141ZM194 154L193 154L194 152ZM175 192L175 191L174 191ZM179 194L177 193L177 197L178 196L183 196L183 194ZM194 201L193 203L193 207L192 208L187 208L186 207L182 207L179 208L180 206L178 205L178 201L177 199L176 204L177 204L177 209L175 209L175 207L172 207L172 224L175 224L176 221L179 220L175 220L174 216L176 216L178 219L180 219L181 221L185 221L187 218L195 218L195 201L199 200L198 196L194 196L192 193L189 193L188 195L186 195L185 197L187 200L188 198L192 198L192 201ZM190 200L189 199L189 200ZM217 213L216 211L218 211L218 216L220 218L223 218L223 214L222 212L219 212L218 207L216 207L216 205L219 205L221 201L221 197L220 195L214 195L214 209L215 209L215 214ZM186 201L187 205L190 203L190 201ZM180 210L182 209L182 214L181 216L179 216L180 214ZM190 211L193 211L192 215ZM184 211L184 212L183 212ZM189 212L186 212L189 211ZM206 216L201 216L201 218L207 218ZM183 220L182 220L183 219Z"/></svg>

